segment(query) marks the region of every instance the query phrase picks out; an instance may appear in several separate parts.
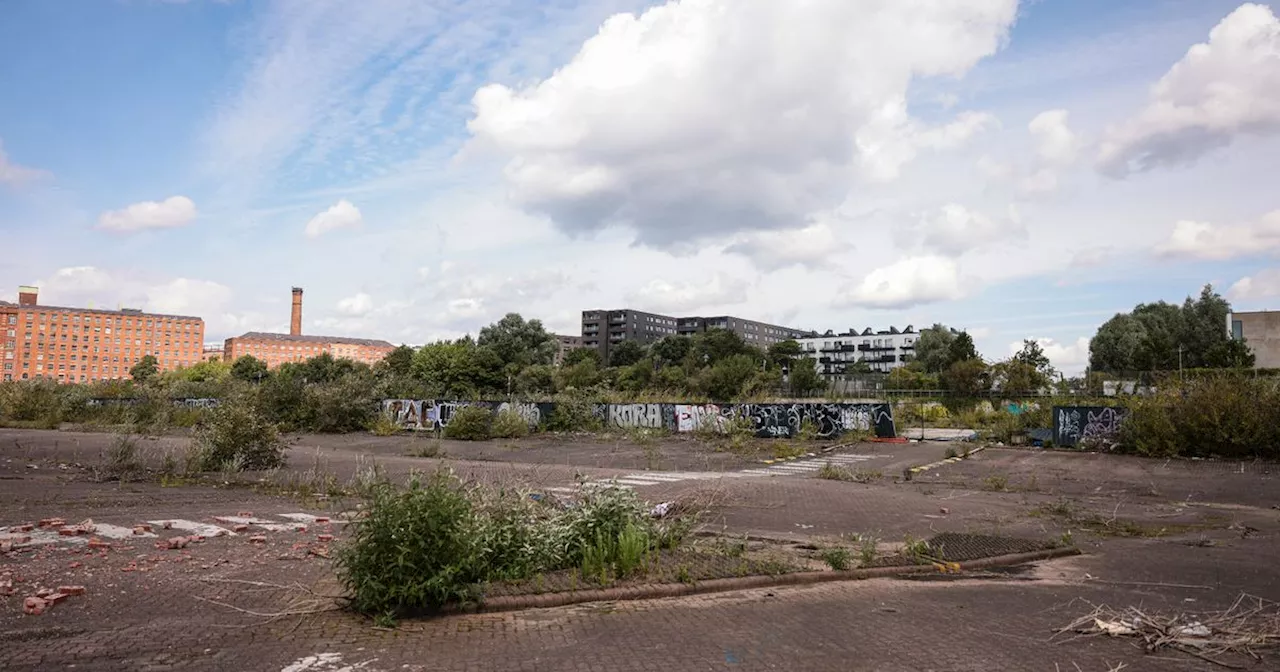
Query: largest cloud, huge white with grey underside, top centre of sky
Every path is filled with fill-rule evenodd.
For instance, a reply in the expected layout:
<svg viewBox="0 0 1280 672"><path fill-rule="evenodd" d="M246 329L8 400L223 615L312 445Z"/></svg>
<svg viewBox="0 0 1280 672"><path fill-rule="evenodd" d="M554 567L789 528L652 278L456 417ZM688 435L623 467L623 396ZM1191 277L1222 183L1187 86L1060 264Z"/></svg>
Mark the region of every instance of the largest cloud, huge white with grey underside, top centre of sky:
<svg viewBox="0 0 1280 672"><path fill-rule="evenodd" d="M673 247L796 228L859 173L892 177L989 127L968 113L929 128L906 95L993 54L1015 14L1016 0L675 0L609 18L541 82L480 88L467 127L474 150L508 157L513 198L570 234L625 225Z"/></svg>

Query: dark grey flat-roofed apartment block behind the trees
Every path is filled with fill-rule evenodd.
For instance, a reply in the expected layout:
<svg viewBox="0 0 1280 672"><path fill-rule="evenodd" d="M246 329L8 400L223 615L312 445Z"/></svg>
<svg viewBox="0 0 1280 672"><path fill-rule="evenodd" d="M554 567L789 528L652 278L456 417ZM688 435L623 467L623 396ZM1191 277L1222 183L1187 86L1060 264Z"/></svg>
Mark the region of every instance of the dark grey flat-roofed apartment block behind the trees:
<svg viewBox="0 0 1280 672"><path fill-rule="evenodd" d="M646 346L668 335L694 335L709 329L728 329L762 349L780 340L810 334L730 315L673 317L630 308L582 311L582 347L596 348L602 362L608 362L609 349L623 340Z"/></svg>

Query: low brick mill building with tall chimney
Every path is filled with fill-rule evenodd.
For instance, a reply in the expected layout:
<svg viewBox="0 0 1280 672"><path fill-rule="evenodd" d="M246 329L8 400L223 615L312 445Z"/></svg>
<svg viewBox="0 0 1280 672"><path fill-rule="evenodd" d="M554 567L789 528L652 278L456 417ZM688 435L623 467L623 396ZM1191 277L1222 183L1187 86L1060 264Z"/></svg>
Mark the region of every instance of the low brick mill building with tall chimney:
<svg viewBox="0 0 1280 672"><path fill-rule="evenodd" d="M328 352L334 358L347 358L374 365L380 362L393 349L396 349L396 346L385 340L302 335L302 288L294 287L289 333L269 334L250 332L243 335L228 338L223 346L223 358L230 362L251 355L266 362L268 367L275 369L284 362L301 362Z"/></svg>

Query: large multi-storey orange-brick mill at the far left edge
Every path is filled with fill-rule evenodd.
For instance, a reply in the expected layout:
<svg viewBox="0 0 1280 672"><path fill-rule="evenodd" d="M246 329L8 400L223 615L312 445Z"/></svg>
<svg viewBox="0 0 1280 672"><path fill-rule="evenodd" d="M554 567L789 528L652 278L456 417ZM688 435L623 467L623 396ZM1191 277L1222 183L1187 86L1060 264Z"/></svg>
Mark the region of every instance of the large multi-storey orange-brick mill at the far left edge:
<svg viewBox="0 0 1280 672"><path fill-rule="evenodd" d="M91 383L128 379L147 355L161 371L201 360L200 317L41 306L38 296L19 287L18 303L0 302L0 380Z"/></svg>

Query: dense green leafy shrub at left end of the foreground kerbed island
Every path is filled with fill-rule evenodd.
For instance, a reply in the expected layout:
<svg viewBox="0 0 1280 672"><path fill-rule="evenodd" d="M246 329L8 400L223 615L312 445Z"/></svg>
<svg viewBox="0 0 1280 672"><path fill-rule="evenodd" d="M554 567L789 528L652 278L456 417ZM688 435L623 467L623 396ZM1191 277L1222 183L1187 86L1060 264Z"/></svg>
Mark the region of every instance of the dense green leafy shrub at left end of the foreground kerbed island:
<svg viewBox="0 0 1280 672"><path fill-rule="evenodd" d="M404 492L378 488L367 511L337 554L338 579L356 611L411 613L475 596L483 538L452 474L413 480Z"/></svg>

